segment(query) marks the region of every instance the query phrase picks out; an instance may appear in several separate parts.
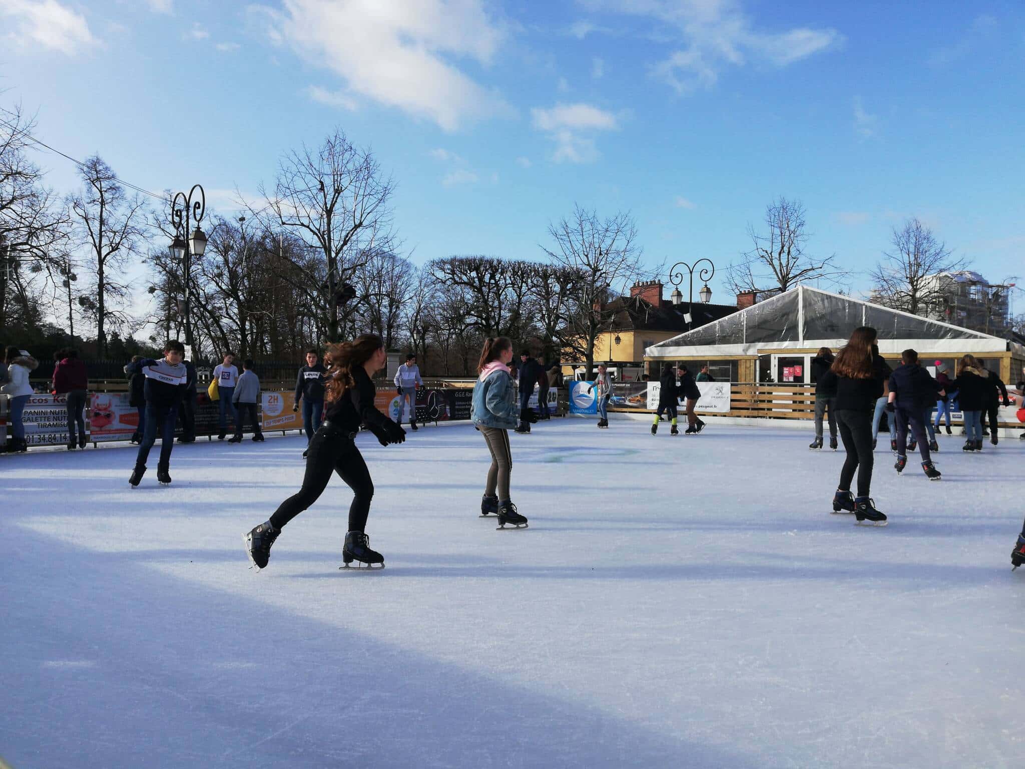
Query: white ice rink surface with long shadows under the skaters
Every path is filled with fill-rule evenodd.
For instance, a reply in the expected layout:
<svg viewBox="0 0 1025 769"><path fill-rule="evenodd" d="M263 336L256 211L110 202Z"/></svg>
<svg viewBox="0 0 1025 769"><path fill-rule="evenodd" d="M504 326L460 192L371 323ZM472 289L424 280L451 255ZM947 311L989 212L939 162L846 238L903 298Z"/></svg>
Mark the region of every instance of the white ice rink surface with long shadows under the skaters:
<svg viewBox="0 0 1025 769"><path fill-rule="evenodd" d="M39 767L1019 767L1025 441L940 483L876 452L887 528L830 514L810 431L542 422L530 528L479 518L473 428L359 443L375 573L337 478L248 568L304 439L0 457L0 757ZM368 440L369 439L369 440ZM910 457L909 457L910 458Z"/></svg>

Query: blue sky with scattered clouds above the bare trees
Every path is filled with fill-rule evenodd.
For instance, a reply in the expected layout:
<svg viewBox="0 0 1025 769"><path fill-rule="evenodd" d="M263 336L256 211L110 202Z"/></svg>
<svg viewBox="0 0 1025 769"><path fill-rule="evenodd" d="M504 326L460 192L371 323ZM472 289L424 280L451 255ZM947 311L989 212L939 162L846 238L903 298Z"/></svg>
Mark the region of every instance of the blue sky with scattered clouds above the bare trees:
<svg viewBox="0 0 1025 769"><path fill-rule="evenodd" d="M580 203L630 210L651 265L710 257L716 301L779 195L851 270L917 215L1025 277L1023 74L1017 2L0 0L0 106L134 185L227 213L340 125L417 264L539 258Z"/></svg>

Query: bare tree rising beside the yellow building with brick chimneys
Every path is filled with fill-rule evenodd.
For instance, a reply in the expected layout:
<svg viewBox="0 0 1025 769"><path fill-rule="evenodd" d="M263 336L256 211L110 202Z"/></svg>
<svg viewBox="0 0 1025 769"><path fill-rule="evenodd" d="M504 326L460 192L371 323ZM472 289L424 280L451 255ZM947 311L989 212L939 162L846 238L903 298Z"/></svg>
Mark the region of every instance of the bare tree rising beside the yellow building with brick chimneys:
<svg viewBox="0 0 1025 769"><path fill-rule="evenodd" d="M643 272L637 226L628 213L600 218L596 211L577 205L570 216L549 225L548 234L555 245L542 248L551 264L579 276L559 340L565 350L584 359L589 377L594 341L613 315L608 302L614 289L631 283Z"/></svg>

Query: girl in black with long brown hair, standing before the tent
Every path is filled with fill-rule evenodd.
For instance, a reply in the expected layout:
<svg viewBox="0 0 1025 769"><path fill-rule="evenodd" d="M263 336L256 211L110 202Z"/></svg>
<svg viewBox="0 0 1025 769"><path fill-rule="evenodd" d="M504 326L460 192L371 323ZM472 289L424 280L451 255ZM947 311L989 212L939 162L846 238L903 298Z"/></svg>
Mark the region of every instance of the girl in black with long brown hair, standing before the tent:
<svg viewBox="0 0 1025 769"><path fill-rule="evenodd" d="M854 329L823 378L835 378L836 427L847 450L833 496L833 513L854 513L859 524L886 526L887 517L875 510L869 497L872 482L872 413L883 396L883 382L890 373L875 345L874 328ZM833 382L827 382L832 387ZM851 494L851 482L858 472L858 496Z"/></svg>

